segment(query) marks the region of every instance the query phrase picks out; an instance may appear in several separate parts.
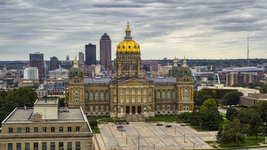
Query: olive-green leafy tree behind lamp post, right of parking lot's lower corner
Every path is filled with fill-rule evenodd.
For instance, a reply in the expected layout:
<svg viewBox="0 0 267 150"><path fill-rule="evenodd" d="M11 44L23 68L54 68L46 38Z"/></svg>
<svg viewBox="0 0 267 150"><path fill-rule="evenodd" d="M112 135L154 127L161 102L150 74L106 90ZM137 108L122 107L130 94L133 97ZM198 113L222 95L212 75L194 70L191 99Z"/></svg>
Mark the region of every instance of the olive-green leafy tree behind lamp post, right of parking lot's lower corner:
<svg viewBox="0 0 267 150"><path fill-rule="evenodd" d="M237 146L239 143L244 144L245 136L244 133L241 132L240 121L238 119L234 119L232 122L225 125L224 133L222 137L222 142L224 144L228 143L236 143L236 135L237 135Z"/></svg>

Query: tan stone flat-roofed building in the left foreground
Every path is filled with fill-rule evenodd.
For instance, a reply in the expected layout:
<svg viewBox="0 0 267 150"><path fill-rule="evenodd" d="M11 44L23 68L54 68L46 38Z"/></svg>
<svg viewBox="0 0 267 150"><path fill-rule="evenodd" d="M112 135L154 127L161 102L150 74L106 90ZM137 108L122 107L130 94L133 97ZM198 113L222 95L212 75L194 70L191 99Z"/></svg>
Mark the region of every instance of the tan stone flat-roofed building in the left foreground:
<svg viewBox="0 0 267 150"><path fill-rule="evenodd" d="M0 149L91 150L92 137L82 108L58 109L57 99L38 99L33 108L16 108L2 122Z"/></svg>

